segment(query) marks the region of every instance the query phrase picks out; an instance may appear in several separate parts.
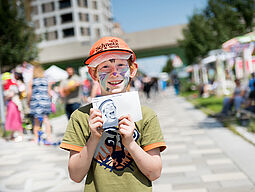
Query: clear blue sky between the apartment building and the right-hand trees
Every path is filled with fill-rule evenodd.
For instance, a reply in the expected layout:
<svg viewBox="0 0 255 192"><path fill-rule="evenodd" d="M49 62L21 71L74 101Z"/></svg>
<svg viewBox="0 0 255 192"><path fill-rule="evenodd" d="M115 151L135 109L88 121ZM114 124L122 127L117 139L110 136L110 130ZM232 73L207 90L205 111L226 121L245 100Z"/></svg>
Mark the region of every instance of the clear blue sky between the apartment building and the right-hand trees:
<svg viewBox="0 0 255 192"><path fill-rule="evenodd" d="M114 21L126 32L186 24L207 0L112 0Z"/></svg>

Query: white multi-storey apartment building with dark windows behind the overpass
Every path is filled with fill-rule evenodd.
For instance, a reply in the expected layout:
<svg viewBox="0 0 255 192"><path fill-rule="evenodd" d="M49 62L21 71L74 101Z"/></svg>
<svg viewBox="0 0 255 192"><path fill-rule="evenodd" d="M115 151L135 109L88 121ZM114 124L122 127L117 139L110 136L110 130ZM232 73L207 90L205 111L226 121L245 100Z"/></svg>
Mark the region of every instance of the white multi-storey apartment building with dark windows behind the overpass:
<svg viewBox="0 0 255 192"><path fill-rule="evenodd" d="M111 0L29 0L29 19L42 49L91 44L113 28Z"/></svg>

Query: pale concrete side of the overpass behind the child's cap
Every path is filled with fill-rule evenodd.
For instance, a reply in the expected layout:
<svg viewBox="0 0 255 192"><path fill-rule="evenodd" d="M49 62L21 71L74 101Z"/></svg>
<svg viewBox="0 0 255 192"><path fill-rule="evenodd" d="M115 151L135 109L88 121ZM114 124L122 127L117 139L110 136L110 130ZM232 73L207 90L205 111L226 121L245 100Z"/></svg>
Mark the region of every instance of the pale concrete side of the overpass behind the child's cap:
<svg viewBox="0 0 255 192"><path fill-rule="evenodd" d="M175 25L158 29L126 33L121 36L134 51L174 47L183 39L182 30L186 25ZM85 58L92 44L88 42L70 42L42 48L39 53L41 63L54 63L66 60Z"/></svg>

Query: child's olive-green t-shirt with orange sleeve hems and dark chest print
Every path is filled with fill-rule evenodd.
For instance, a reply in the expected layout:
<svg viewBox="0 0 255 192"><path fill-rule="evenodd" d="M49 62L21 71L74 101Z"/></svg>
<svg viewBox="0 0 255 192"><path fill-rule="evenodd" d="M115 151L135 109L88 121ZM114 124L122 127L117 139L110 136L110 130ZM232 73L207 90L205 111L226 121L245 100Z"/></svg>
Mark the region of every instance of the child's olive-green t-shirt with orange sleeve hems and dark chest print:
<svg viewBox="0 0 255 192"><path fill-rule="evenodd" d="M61 148L80 152L88 141L89 110L92 104L77 109L71 116ZM158 118L150 108L142 106L143 119L136 122L134 139L145 151L166 148ZM84 191L122 192L152 191L151 181L142 174L121 142L118 131L103 132L92 160Z"/></svg>

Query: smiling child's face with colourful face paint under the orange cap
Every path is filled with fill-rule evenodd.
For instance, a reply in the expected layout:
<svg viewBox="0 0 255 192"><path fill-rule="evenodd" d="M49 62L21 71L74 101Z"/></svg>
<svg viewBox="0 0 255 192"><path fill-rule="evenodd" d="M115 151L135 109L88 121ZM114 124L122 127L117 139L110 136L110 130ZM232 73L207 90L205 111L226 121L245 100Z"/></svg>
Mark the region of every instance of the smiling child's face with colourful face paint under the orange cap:
<svg viewBox="0 0 255 192"><path fill-rule="evenodd" d="M97 68L102 95L125 92L129 82L130 68L127 60L112 59Z"/></svg>

